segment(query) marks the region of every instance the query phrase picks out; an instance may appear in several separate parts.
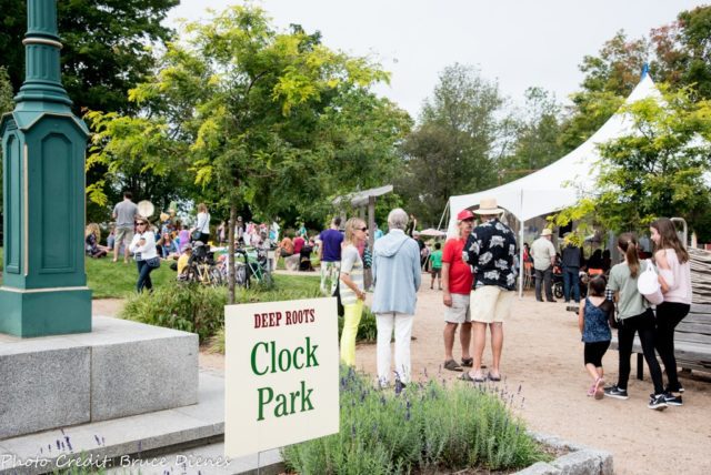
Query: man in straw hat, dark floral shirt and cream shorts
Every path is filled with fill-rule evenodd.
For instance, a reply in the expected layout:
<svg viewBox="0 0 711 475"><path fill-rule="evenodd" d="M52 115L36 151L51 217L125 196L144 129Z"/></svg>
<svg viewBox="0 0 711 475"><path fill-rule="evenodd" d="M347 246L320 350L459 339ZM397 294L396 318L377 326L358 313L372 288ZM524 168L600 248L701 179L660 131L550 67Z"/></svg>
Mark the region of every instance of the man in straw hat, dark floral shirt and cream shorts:
<svg viewBox="0 0 711 475"><path fill-rule="evenodd" d="M515 236L509 226L499 221L503 210L494 198L483 198L479 210L482 223L474 228L464 244L462 257L473 266L474 283L470 297L471 320L474 333L474 363L472 371L461 378L483 383L481 357L487 338L487 325L491 330L491 371L487 377L501 381L500 363L503 346L503 321L508 317L513 302L515 272Z"/></svg>

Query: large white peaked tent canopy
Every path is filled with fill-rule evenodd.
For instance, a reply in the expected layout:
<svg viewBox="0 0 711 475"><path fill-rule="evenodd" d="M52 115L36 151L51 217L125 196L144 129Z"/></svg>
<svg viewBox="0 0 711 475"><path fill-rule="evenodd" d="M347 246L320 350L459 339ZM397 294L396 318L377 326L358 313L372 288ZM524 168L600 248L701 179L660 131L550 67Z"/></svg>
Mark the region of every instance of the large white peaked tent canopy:
<svg viewBox="0 0 711 475"><path fill-rule="evenodd" d="M644 74L625 103L645 98L661 98L649 74ZM557 162L501 186L450 196L448 235L457 235L457 213L478 206L479 200L484 196L495 198L500 208L521 222L575 204L594 185L595 163L600 160L598 144L629 134L630 125L630 119L617 112L590 139Z"/></svg>

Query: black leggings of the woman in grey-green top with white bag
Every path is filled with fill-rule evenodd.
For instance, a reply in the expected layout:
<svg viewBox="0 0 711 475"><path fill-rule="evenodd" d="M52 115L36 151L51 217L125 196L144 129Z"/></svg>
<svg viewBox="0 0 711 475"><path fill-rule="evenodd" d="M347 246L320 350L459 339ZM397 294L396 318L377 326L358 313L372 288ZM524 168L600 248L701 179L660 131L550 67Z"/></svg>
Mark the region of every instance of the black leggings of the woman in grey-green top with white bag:
<svg viewBox="0 0 711 475"><path fill-rule="evenodd" d="M630 378L630 356L632 355L632 343L634 333L639 333L640 343L644 360L649 367L649 373L654 383L654 394L664 392L662 384L662 370L654 354L654 314L651 309L639 315L620 320L618 329L618 351L620 353L620 374L618 376L618 387L627 390L627 382Z"/></svg>

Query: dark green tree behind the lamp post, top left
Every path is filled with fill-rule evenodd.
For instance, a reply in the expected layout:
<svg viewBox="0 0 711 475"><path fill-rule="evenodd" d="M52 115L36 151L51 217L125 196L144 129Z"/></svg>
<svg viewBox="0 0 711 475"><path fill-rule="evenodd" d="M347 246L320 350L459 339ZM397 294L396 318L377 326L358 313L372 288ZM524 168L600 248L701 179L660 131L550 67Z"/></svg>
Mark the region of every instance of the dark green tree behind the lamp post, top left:
<svg viewBox="0 0 711 475"><path fill-rule="evenodd" d="M154 65L147 47L163 43L171 30L161 24L179 0L72 0L57 3L62 82L73 111L128 111L129 89ZM0 0L3 29L0 57L17 91L24 81L26 0Z"/></svg>

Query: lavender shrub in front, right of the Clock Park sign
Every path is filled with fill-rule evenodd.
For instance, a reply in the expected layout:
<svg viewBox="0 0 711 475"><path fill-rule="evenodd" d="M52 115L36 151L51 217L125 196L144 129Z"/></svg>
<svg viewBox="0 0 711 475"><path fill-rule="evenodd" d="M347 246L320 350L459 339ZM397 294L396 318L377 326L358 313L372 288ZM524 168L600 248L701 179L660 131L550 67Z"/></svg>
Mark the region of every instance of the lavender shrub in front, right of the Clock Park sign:
<svg viewBox="0 0 711 475"><path fill-rule="evenodd" d="M515 395L490 386L412 383L374 390L341 370L340 432L282 449L287 467L310 474L511 469L550 459L514 416Z"/></svg>

